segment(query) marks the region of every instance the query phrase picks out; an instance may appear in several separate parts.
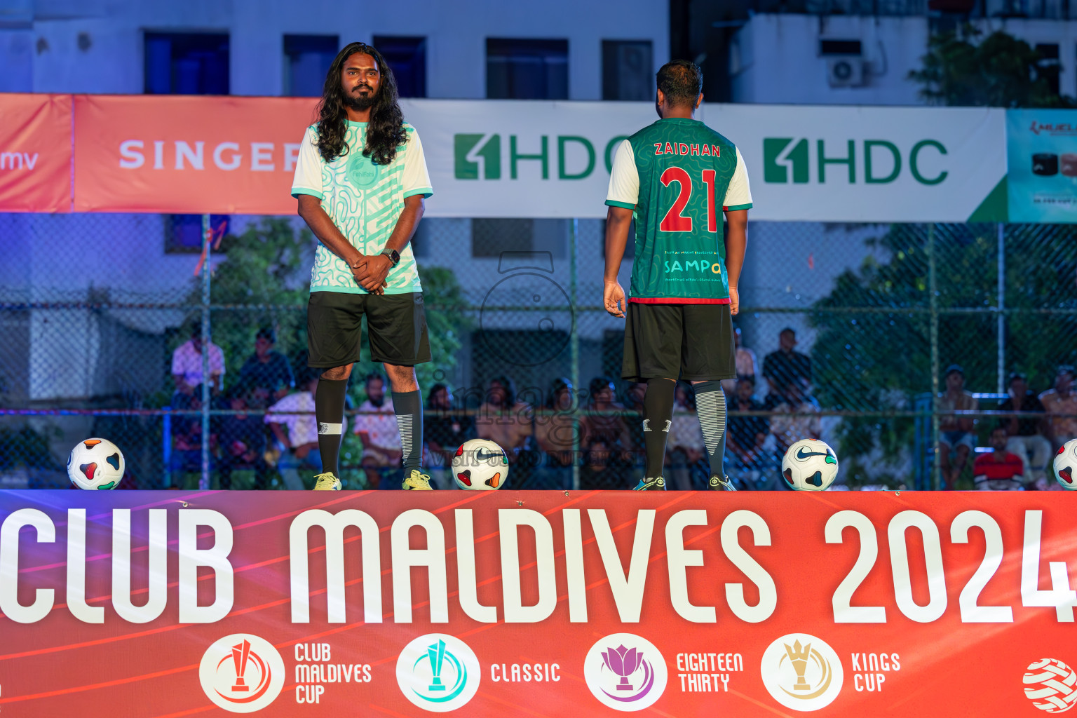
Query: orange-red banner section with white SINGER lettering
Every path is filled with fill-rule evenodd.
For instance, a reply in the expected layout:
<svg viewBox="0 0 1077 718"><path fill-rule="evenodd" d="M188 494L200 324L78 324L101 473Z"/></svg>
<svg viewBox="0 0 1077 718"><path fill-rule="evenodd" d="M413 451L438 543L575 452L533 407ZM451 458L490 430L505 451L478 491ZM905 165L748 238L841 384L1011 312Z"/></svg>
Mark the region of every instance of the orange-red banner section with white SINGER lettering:
<svg viewBox="0 0 1077 718"><path fill-rule="evenodd" d="M317 102L76 95L75 211L294 213L295 161Z"/></svg>

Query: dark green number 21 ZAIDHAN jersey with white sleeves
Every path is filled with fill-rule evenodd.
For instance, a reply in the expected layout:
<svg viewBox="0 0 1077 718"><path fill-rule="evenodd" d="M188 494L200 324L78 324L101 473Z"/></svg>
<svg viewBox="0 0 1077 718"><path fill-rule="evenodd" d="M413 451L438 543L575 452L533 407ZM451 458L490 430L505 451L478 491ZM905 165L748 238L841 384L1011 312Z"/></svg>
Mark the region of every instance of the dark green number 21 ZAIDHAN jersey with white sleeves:
<svg viewBox="0 0 1077 718"><path fill-rule="evenodd" d="M659 119L618 145L605 203L634 210L629 301L729 304L719 213L752 207L732 142L698 119Z"/></svg>

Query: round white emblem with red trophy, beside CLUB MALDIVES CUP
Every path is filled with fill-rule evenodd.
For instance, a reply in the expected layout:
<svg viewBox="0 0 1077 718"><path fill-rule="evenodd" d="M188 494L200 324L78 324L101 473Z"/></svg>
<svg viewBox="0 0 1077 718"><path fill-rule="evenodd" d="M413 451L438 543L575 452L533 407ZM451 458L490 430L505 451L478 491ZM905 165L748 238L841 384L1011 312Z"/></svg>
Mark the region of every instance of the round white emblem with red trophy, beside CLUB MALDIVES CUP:
<svg viewBox="0 0 1077 718"><path fill-rule="evenodd" d="M229 713L254 713L280 695L284 660L265 638L234 633L206 650L198 680L219 707Z"/></svg>

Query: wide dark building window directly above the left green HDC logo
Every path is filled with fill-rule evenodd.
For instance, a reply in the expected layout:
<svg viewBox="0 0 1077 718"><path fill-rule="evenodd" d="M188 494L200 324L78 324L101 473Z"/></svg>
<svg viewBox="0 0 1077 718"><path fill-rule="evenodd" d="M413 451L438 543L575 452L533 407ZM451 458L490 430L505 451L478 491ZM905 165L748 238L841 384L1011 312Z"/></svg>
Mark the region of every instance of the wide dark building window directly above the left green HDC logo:
<svg viewBox="0 0 1077 718"><path fill-rule="evenodd" d="M569 41L487 38L486 96L494 100L569 99Z"/></svg>

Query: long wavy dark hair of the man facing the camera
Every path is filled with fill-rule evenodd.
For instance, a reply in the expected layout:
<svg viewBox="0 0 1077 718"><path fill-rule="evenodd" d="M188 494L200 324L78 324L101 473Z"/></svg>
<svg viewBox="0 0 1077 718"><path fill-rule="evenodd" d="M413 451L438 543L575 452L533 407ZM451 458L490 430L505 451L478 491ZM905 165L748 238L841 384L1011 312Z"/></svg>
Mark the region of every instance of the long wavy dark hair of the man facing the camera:
<svg viewBox="0 0 1077 718"><path fill-rule="evenodd" d="M348 154L350 147L345 142L348 131L348 111L345 107L344 89L340 87L340 70L345 61L356 53L369 55L378 65L381 83L370 108L370 122L366 125L366 146L363 155L375 164L388 165L396 156L396 147L407 142L404 129L404 113L401 112L396 79L386 64L386 58L374 47L362 43L349 43L337 53L325 75L322 101L318 105L318 152L331 163Z"/></svg>

